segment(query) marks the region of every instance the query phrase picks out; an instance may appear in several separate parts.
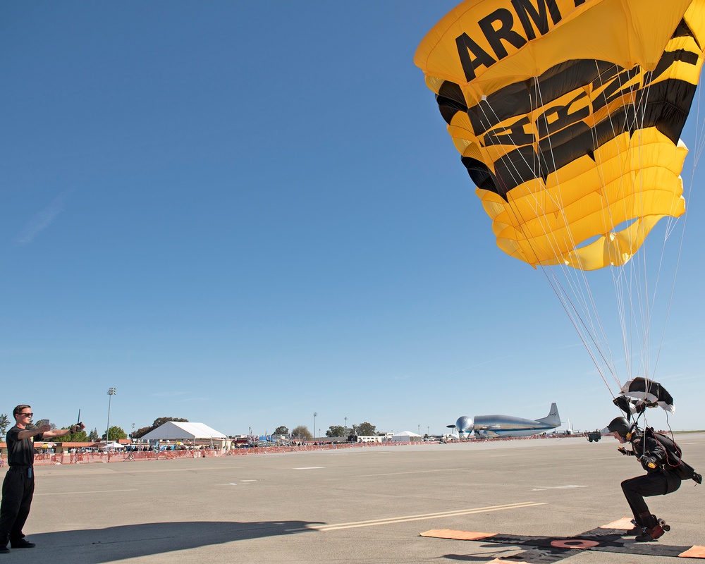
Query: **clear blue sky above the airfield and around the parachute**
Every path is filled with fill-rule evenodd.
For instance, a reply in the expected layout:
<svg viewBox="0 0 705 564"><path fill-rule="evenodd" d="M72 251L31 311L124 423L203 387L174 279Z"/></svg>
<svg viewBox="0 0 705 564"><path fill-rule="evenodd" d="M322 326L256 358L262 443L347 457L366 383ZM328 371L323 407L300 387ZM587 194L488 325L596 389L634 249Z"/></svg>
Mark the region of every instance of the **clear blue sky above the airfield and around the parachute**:
<svg viewBox="0 0 705 564"><path fill-rule="evenodd" d="M412 62L454 4L2 4L0 412L103 431L113 386L128 432L618 415ZM705 428L700 188L658 360L674 429Z"/></svg>

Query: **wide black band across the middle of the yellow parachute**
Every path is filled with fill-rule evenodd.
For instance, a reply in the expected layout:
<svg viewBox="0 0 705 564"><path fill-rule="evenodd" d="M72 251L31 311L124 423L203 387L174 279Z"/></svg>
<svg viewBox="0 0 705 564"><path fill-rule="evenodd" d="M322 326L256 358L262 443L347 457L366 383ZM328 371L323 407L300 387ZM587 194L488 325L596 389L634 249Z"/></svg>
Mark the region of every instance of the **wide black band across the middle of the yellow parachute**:
<svg viewBox="0 0 705 564"><path fill-rule="evenodd" d="M674 37L686 35L693 34L681 22ZM462 157L461 161L475 185L508 200L507 192L518 185L534 178L545 181L548 175L575 159L592 158L598 147L625 132L633 134L639 129L655 127L674 145L678 144L696 86L673 78L652 83L677 61L697 65L698 57L685 50L666 51L656 69L646 73L606 61L566 61L538 78L503 87L470 107L460 86L446 81L439 88L436 102L446 123L450 124L462 112L467 114L472 133L481 139L484 147L507 147L506 153L494 162L494 172L472 157ZM599 92L589 102L589 108L581 106L587 90ZM570 92L575 92L571 103L548 107L536 123L530 123L527 115ZM611 111L592 127L586 123L591 113L630 95L633 102ZM572 103L580 108L575 113L569 113ZM534 130L538 139L530 133Z"/></svg>

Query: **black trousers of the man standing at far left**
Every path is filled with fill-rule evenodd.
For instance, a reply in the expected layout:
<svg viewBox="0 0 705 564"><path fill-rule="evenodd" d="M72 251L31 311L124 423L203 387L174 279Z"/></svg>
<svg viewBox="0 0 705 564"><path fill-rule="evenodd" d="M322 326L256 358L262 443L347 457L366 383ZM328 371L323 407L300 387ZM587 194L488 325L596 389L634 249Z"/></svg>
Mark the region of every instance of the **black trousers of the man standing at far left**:
<svg viewBox="0 0 705 564"><path fill-rule="evenodd" d="M27 515L30 514L32 495L35 493L35 474L32 468L10 467L2 484L2 502L0 503L0 547L6 546L8 540L16 542L25 535Z"/></svg>

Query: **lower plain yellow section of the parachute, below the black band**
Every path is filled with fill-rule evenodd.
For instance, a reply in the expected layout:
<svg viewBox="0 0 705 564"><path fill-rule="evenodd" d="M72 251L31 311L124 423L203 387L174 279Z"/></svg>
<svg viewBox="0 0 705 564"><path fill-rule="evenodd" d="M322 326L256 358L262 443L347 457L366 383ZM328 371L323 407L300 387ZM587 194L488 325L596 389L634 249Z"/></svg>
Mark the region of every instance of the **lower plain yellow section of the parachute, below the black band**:
<svg viewBox="0 0 705 564"><path fill-rule="evenodd" d="M497 244L508 255L532 265L568 264L582 270L625 264L659 219L685 212L679 173L687 154L654 128L630 140L627 133L589 157L509 192L510 202L494 192L477 189L493 220ZM622 145L622 147L620 147ZM631 146L638 150L631 151ZM644 161L663 164L644 166ZM560 175L565 180L557 182ZM608 203L607 203L608 202ZM637 219L614 233L615 226ZM640 227L639 227L640 226ZM579 244L603 233L598 241ZM626 242L625 242L626 239ZM599 248L598 248L599 247Z"/></svg>

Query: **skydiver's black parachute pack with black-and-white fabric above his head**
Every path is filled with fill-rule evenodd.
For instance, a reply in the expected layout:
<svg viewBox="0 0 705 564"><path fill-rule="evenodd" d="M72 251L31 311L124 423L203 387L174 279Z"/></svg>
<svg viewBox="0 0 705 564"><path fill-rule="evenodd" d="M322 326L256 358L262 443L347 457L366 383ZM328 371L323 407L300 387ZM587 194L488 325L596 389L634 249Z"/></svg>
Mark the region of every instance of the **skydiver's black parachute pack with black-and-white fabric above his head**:
<svg viewBox="0 0 705 564"><path fill-rule="evenodd" d="M668 436L654 431L653 428L646 427L646 425L644 425L643 431L639 428L639 419L649 407L661 407L668 413L675 413L673 397L666 391L666 388L653 380L635 378L627 381L613 403L627 416L627 422L630 424L627 440L630 439L631 434L643 433L644 436L648 434L666 452L666 460L663 463L666 470L675 472L682 480L692 479L696 484L702 483L701 474L698 474L692 466L682 460L682 451L673 439L673 431L670 431L670 436Z"/></svg>

